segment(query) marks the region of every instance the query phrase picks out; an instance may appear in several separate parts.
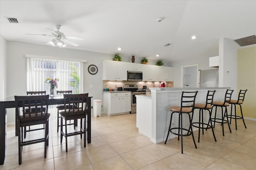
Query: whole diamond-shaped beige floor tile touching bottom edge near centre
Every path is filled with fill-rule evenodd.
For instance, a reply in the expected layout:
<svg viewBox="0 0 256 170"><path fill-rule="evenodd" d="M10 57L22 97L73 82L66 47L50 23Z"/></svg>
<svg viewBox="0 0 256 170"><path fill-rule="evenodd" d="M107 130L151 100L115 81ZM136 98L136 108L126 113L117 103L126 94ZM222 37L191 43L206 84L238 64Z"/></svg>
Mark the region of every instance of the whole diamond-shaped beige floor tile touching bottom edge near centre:
<svg viewBox="0 0 256 170"><path fill-rule="evenodd" d="M154 156L150 155L148 152L142 149L132 150L120 156L133 168L139 169L153 162L156 162L157 159Z"/></svg>

